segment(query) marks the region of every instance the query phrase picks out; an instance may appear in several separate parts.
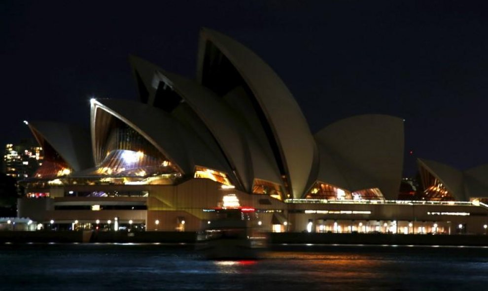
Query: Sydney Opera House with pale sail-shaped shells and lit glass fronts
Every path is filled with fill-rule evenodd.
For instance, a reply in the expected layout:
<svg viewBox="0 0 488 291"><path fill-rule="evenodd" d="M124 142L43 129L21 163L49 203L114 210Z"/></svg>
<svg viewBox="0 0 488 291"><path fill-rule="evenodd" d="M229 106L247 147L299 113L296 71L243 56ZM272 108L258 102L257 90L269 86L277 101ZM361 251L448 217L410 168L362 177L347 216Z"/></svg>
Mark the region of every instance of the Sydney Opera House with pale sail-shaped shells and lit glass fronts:
<svg viewBox="0 0 488 291"><path fill-rule="evenodd" d="M486 231L487 167L420 160L427 199L399 201L402 119L360 115L312 133L283 81L241 43L202 29L197 59L190 80L131 57L139 101L92 99L89 130L29 122L45 157L24 181L19 217L38 228L195 231L235 194L269 231Z"/></svg>

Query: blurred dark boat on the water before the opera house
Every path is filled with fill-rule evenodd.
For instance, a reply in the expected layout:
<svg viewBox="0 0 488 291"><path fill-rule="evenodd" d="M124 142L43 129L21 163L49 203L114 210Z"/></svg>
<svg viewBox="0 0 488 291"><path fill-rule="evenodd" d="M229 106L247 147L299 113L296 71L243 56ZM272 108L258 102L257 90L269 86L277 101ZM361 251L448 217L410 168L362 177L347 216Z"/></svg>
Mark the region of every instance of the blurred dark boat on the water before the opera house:
<svg viewBox="0 0 488 291"><path fill-rule="evenodd" d="M259 259L268 237L261 230L256 210L238 203L234 194L224 196L224 206L213 209L213 218L200 236L200 250L207 259ZM237 200L238 201L238 200Z"/></svg>

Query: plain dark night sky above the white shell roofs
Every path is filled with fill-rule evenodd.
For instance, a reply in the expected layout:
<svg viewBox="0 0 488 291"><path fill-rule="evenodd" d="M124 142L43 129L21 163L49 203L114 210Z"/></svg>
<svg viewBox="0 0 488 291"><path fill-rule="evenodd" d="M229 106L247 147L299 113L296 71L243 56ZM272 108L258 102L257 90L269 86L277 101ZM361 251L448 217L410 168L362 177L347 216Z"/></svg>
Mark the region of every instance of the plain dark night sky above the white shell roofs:
<svg viewBox="0 0 488 291"><path fill-rule="evenodd" d="M414 157L488 162L487 1L69 2L0 4L2 145L31 136L23 120L88 127L92 95L136 99L129 54L194 78L206 26L271 65L314 132L390 114L406 120L407 174Z"/></svg>

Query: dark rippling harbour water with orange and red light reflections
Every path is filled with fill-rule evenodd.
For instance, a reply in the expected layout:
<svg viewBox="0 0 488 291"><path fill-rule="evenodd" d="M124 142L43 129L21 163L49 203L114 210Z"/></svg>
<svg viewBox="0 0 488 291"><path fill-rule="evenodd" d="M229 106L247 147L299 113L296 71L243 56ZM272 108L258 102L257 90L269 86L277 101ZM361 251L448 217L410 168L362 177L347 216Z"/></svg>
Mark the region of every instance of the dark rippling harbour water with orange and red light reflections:
<svg viewBox="0 0 488 291"><path fill-rule="evenodd" d="M0 290L486 290L488 248L284 245L205 260L192 245L3 244Z"/></svg>

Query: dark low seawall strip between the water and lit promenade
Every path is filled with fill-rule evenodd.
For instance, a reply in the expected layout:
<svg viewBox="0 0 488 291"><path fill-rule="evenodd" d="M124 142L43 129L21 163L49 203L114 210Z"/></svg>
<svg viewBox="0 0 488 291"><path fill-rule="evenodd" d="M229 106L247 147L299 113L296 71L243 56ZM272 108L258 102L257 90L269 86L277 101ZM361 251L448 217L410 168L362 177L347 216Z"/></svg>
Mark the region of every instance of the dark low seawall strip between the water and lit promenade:
<svg viewBox="0 0 488 291"><path fill-rule="evenodd" d="M0 243L187 243L197 232L0 231ZM269 233L270 245L488 246L488 235L384 233Z"/></svg>

